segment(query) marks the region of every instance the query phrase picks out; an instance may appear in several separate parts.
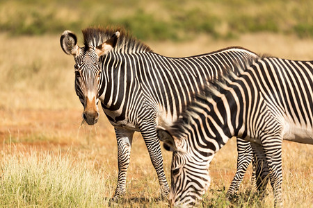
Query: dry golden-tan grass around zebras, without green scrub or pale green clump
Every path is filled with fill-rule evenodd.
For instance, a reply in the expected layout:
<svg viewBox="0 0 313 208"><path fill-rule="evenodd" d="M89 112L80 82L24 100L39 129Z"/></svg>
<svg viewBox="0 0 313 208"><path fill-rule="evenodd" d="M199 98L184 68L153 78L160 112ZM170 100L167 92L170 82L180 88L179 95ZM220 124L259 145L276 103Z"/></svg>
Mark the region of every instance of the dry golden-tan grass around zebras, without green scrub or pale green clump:
<svg viewBox="0 0 313 208"><path fill-rule="evenodd" d="M90 163L93 180L105 184L99 192L111 197L117 180L117 146L113 127L101 112L95 127L81 125L81 104L74 93L74 60L59 46L59 37L15 37L0 34L0 149L1 171L9 157L37 159L61 153L75 166ZM244 46L257 53L271 53L282 58L312 60L312 40L271 34L243 35L238 40L213 40L200 35L190 42L147 42L154 51L168 56L186 56L214 51L226 46ZM14 144L14 145L13 145ZM13 148L14 147L14 148ZM14 151L12 150L14 149ZM11 149L10 151L8 151ZM33 157L32 152L42 157ZM69 154L65 154L68 153ZM171 154L162 149L166 175L169 176ZM284 204L289 207L312 207L313 147L284 141L283 191ZM49 156L50 155L50 156ZM46 157L47 156L47 157ZM51 157L55 158L55 157ZM17 164L24 160L15 160ZM38 166L40 169L40 166ZM225 200L236 168L236 146L232 139L211 163L212 184L200 207L272 207L273 196L259 202L250 190L251 170L243 181L235 202ZM104 173L101 177L97 173ZM3 172L1 174L4 174ZM1 177L1 180L3 178ZM169 179L169 178L168 178ZM83 178L82 178L83 180ZM169 180L168 180L169 181ZM1 195L2 193L0 193ZM113 206L167 207L159 197L157 175L150 162L141 135L134 137L131 164L127 175L126 201ZM44 199L41 199L44 200ZM21 204L21 207L24 205ZM25 205L27 206L27 205ZM29 204L28 206L40 206ZM98 207L108 206L106 200Z"/></svg>

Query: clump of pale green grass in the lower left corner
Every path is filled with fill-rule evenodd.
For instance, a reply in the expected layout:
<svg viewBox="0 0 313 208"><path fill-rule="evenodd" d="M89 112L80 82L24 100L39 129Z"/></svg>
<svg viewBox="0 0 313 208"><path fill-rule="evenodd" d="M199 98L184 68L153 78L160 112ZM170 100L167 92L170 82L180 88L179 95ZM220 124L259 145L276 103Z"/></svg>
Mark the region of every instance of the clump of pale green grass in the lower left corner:
<svg viewBox="0 0 313 208"><path fill-rule="evenodd" d="M1 207L105 207L109 177L65 155L2 151Z"/></svg>

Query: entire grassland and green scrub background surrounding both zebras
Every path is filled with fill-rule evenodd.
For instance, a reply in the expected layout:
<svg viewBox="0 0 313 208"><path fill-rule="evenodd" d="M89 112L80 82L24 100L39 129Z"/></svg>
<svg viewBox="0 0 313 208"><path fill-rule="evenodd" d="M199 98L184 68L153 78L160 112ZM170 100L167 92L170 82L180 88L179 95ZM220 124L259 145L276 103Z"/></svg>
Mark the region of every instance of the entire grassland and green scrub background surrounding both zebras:
<svg viewBox="0 0 313 208"><path fill-rule="evenodd" d="M125 200L109 204L118 176L113 127L100 111L82 124L74 60L59 37L97 25L122 25L162 55L188 56L243 46L294 60L313 59L313 1L10 0L0 1L0 207L168 207L139 133L134 135ZM87 18L88 17L88 18ZM171 153L162 148L170 182ZM313 207L313 146L283 142L285 207ZM273 207L250 185L251 167L232 202L232 139L211 162L211 187L199 207Z"/></svg>

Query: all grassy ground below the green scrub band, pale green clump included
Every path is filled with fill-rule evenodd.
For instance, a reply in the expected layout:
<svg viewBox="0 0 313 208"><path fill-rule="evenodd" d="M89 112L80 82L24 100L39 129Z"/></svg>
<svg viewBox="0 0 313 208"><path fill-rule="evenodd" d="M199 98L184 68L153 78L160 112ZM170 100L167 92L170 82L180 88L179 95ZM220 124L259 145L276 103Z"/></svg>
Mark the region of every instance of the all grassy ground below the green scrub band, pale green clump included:
<svg viewBox="0 0 313 208"><path fill-rule="evenodd" d="M108 207L117 180L113 127L101 112L95 126L81 124L83 107L74 93L72 57L58 35L0 35L0 202L3 207ZM205 35L189 42L147 42L155 52L185 56L226 46L243 46L281 58L312 60L313 41L258 33L236 40ZM283 192L287 207L312 207L313 146L283 142ZM171 154L162 149L170 182ZM212 183L200 207L272 207L260 202L250 186L251 168L239 196L225 200L236 168L232 139L211 162ZM270 186L268 186L270 187ZM140 134L134 136L125 201L113 207L167 207L159 201L157 175Z"/></svg>

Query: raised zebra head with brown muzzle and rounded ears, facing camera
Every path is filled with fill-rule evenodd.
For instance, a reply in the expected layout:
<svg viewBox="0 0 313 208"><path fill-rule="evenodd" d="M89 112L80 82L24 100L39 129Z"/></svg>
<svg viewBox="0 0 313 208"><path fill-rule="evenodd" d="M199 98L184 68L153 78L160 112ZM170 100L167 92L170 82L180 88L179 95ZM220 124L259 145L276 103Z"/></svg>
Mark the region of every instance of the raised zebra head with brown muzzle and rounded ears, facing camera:
<svg viewBox="0 0 313 208"><path fill-rule="evenodd" d="M102 85L102 66L99 58L106 55L117 43L120 32L113 34L111 39L102 42L102 38L90 41L95 35L83 31L85 45L77 45L77 36L71 31L64 31L61 35L61 47L75 60L75 91L83 104L83 119L89 124L97 123L99 119L98 102ZM87 37L86 37L87 36ZM88 39L86 41L86 39ZM101 40L101 42L99 42Z"/></svg>

